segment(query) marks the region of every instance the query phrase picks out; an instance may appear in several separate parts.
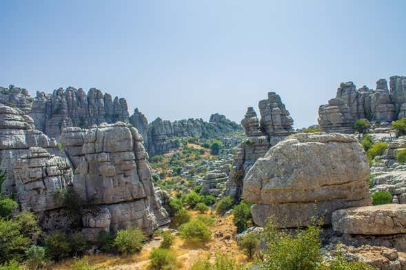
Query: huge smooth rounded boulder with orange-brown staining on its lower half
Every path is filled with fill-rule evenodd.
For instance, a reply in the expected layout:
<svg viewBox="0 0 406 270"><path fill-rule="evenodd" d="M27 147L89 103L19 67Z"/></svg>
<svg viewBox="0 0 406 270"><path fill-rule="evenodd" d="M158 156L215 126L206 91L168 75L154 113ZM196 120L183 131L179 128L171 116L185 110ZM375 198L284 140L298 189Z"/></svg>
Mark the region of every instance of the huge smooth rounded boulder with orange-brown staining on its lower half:
<svg viewBox="0 0 406 270"><path fill-rule="evenodd" d="M243 198L257 225L275 217L279 227L308 225L314 216L330 224L332 212L372 203L367 157L344 134L294 134L258 158L243 180Z"/></svg>

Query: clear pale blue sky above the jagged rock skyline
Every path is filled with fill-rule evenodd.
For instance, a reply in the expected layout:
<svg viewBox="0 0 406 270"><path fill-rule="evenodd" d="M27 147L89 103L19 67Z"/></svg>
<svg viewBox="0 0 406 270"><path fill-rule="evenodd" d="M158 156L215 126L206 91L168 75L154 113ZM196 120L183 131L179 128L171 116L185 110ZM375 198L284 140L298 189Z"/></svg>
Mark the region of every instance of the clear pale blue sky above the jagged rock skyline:
<svg viewBox="0 0 406 270"><path fill-rule="evenodd" d="M219 112L267 92L296 127L341 81L406 75L406 1L0 2L0 85L97 87L152 121Z"/></svg>

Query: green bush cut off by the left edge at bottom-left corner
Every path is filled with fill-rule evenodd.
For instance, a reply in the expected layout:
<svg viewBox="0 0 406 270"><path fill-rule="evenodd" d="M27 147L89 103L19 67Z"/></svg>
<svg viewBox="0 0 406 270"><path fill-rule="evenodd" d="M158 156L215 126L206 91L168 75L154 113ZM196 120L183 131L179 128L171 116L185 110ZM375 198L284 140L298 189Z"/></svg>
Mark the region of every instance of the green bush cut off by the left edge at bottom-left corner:
<svg viewBox="0 0 406 270"><path fill-rule="evenodd" d="M0 218L0 264L10 260L21 260L31 242L21 230L20 222Z"/></svg>

